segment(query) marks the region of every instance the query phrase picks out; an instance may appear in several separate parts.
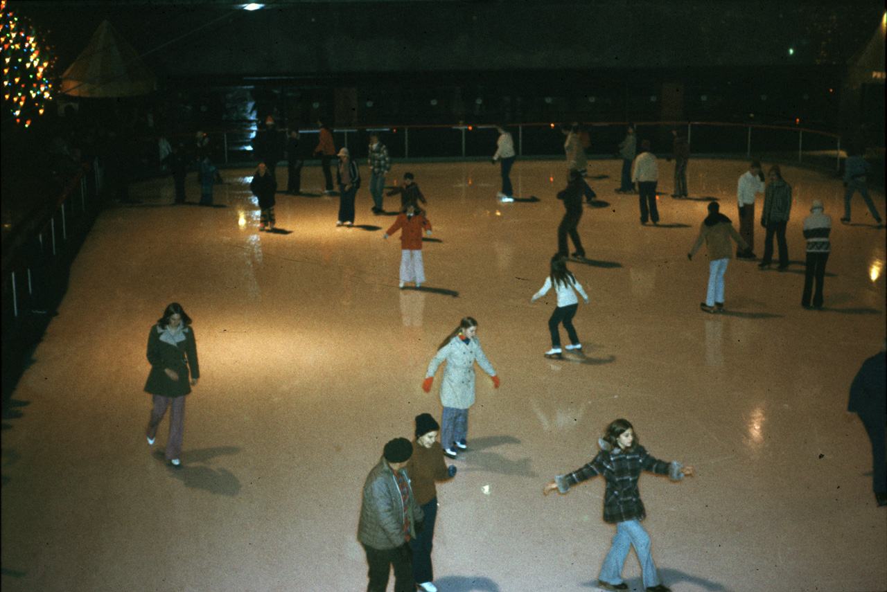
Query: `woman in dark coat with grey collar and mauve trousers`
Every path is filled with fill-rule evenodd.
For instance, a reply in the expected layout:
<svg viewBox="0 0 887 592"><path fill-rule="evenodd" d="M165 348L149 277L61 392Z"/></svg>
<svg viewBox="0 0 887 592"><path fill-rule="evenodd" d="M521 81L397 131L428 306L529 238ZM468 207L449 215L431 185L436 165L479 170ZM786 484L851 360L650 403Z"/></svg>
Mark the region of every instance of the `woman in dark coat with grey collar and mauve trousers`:
<svg viewBox="0 0 887 592"><path fill-rule="evenodd" d="M145 392L153 394L153 409L146 435L153 446L157 426L169 407L169 440L166 459L179 465L184 432L184 395L200 378L197 362L197 342L191 328L191 318L184 314L182 305L170 304L163 316L148 333L148 362L151 373L145 382ZM190 378L189 378L190 370Z"/></svg>

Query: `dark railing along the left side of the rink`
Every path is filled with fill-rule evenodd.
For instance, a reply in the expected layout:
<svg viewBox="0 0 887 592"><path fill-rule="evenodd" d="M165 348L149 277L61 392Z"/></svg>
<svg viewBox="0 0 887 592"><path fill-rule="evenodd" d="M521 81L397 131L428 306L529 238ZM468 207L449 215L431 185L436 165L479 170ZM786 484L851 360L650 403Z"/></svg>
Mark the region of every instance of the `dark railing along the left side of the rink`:
<svg viewBox="0 0 887 592"><path fill-rule="evenodd" d="M4 351L30 339L26 332L39 323L26 323L28 319L48 318L58 306L71 262L101 207L101 178L98 160L93 160L58 199L32 212L4 237Z"/></svg>

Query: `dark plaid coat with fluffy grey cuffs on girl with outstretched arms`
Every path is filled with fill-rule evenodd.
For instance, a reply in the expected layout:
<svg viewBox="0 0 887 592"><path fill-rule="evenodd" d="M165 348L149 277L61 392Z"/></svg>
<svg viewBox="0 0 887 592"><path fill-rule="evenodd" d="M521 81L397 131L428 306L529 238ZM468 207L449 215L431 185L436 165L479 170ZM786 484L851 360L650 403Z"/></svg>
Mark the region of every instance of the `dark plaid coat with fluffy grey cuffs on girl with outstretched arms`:
<svg viewBox="0 0 887 592"><path fill-rule="evenodd" d="M621 448L613 450L604 440L598 440L598 445L600 452L591 463L567 475L558 475L554 478L554 482L557 483L561 494L566 494L570 487L597 475L603 475L604 479L607 479L604 491L604 522L616 524L626 520L647 518L647 511L644 509L644 502L640 501L638 490L640 471L668 475L672 481L684 479L684 474L680 471L684 465L656 460L640 444L628 450Z"/></svg>

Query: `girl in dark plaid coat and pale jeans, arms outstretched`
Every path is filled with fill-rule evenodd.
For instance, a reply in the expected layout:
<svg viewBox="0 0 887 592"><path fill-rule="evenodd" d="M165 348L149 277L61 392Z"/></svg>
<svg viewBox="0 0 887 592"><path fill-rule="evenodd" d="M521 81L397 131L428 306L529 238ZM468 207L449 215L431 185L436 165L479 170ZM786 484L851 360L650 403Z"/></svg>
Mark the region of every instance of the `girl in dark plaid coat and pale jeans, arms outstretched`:
<svg viewBox="0 0 887 592"><path fill-rule="evenodd" d="M669 592L659 580L656 566L650 554L650 537L640 521L647 517L644 503L640 501L638 479L640 471L668 475L679 481L684 476L693 476L693 467L680 463L666 463L656 460L640 446L632 425L624 419L616 419L608 425L604 437L598 440L600 452L591 463L566 475L558 475L543 488L548 495L554 489L561 494L569 488L597 475L607 480L604 494L604 522L616 525L613 544L600 568L598 585L608 590L627 590L628 584L622 580L622 569L628 551L634 546L643 573L644 588L647 592Z"/></svg>

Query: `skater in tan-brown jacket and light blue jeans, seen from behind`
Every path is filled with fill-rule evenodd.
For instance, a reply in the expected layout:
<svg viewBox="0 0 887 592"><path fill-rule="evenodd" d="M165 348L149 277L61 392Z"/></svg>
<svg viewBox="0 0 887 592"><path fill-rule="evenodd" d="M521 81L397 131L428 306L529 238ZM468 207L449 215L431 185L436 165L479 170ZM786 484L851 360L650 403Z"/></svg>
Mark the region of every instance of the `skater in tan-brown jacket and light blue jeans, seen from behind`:
<svg viewBox="0 0 887 592"><path fill-rule="evenodd" d="M702 226L699 227L699 236L687 253L687 259L693 261L693 255L703 245L703 241L709 251L709 290L706 292L705 301L699 305L699 308L707 313L724 310L724 274L726 264L730 262L730 255L733 253L731 238L742 249L742 253L748 253L749 244L736 232L733 222L720 213L718 202L709 202L709 215L703 220Z"/></svg>

